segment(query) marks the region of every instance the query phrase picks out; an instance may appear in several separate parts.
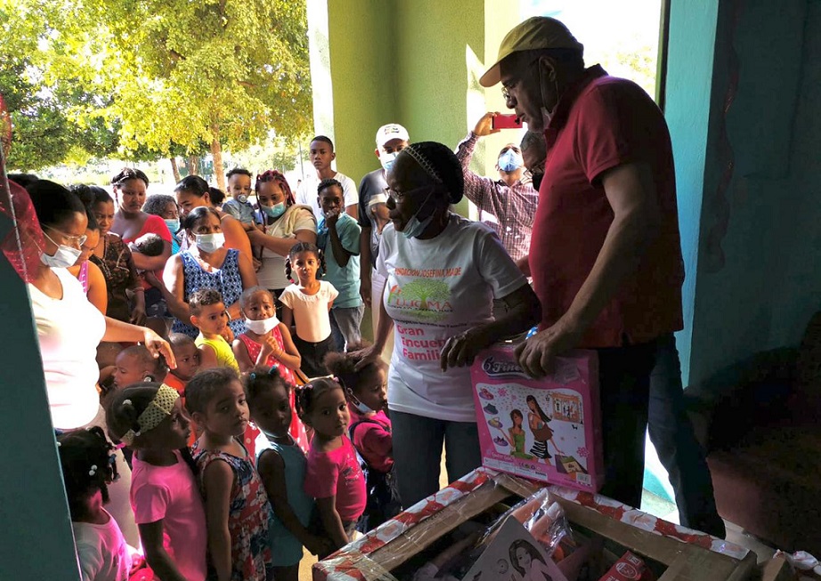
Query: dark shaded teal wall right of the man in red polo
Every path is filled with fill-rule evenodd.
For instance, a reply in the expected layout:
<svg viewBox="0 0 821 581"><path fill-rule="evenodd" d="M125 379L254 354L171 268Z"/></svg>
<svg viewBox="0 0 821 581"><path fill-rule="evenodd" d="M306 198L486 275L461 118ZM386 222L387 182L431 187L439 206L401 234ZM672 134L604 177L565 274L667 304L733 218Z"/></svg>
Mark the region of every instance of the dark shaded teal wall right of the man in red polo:
<svg viewBox="0 0 821 581"><path fill-rule="evenodd" d="M806 131L817 126L818 114L805 103L802 118L795 117L801 77L819 56L817 44L805 46L804 29L812 24L808 4L749 0L738 13L734 4L719 7L700 243L696 269L687 273L688 286L695 282L690 383L755 351L797 343L819 306L819 246L811 241L821 216L810 182L818 144L817 133ZM725 114L734 49L739 78ZM816 89L805 82L804 98ZM807 163L794 164L799 158ZM719 196L731 160L733 178ZM695 227L690 218L682 220L688 252ZM726 234L715 237L725 219ZM719 238L720 250L712 243Z"/></svg>

